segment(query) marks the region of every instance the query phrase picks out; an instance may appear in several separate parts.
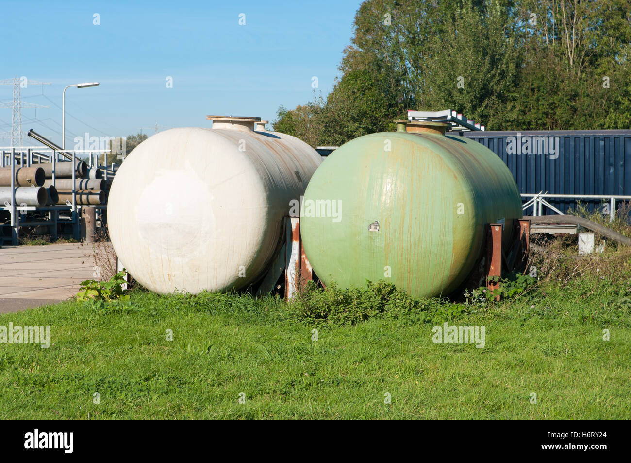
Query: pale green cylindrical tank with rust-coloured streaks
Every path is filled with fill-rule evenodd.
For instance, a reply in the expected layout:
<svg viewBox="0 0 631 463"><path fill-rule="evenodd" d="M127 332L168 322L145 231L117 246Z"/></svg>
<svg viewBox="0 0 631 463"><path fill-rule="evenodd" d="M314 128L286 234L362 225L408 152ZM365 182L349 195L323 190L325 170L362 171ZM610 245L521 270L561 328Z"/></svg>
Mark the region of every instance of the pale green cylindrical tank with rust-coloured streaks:
<svg viewBox="0 0 631 463"><path fill-rule="evenodd" d="M300 211L305 254L341 287L386 280L422 298L471 273L487 224L509 245L521 198L509 169L447 124L396 121L335 150L309 181Z"/></svg>

